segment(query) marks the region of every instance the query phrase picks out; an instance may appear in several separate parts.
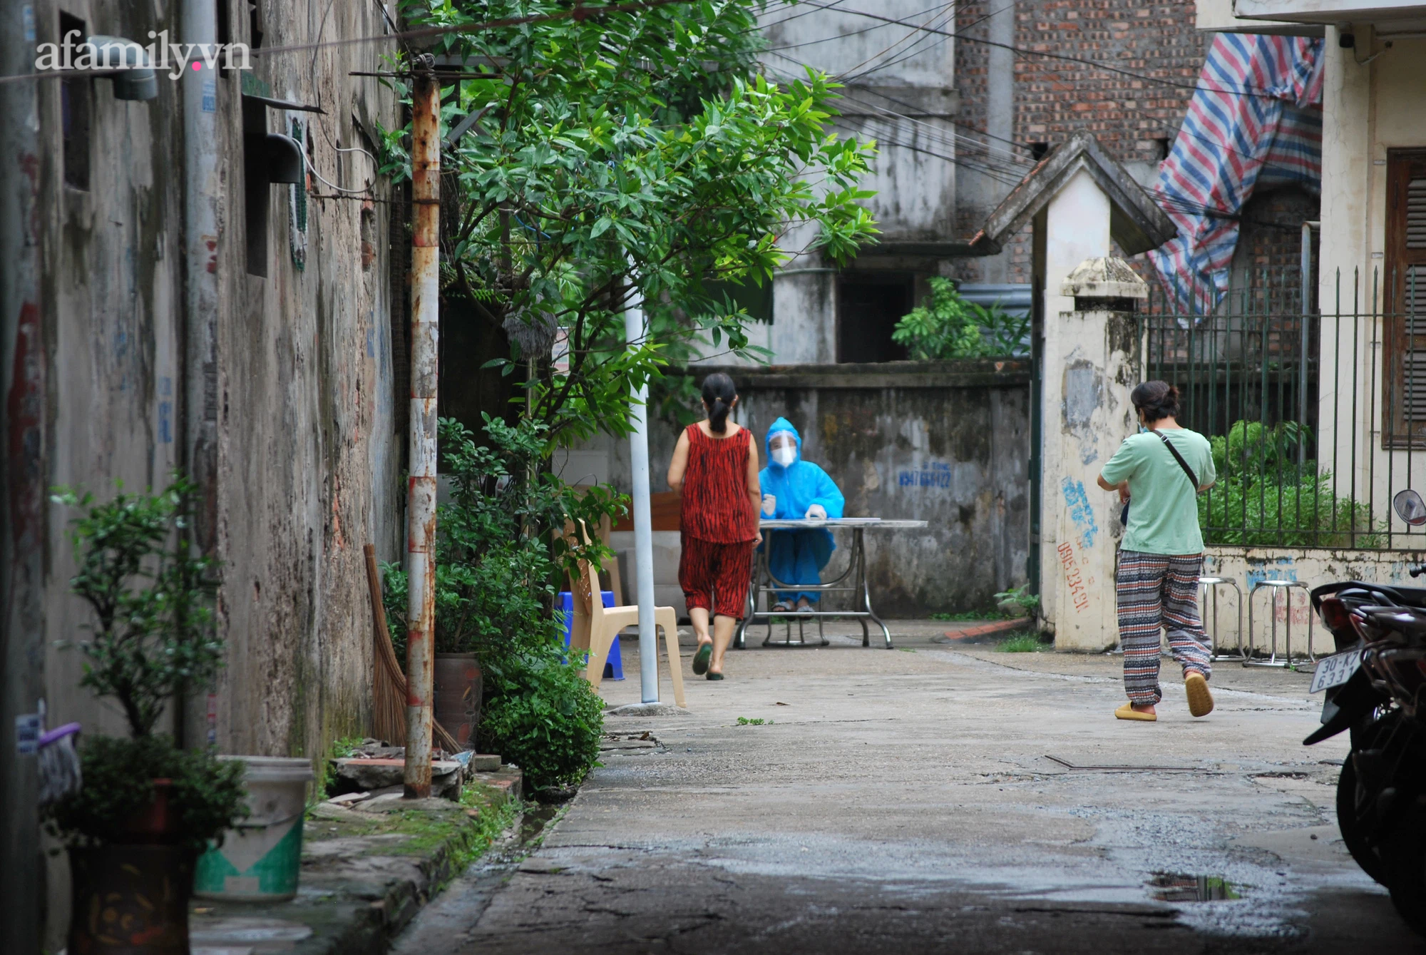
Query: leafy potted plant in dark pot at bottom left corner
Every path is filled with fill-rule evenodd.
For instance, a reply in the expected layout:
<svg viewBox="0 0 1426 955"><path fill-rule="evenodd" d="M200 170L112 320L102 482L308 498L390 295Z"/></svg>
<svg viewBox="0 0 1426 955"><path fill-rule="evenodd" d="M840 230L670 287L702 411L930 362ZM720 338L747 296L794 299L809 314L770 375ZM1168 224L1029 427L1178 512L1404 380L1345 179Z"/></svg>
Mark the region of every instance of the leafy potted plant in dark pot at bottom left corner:
<svg viewBox="0 0 1426 955"><path fill-rule="evenodd" d="M222 666L214 631L212 560L190 553L184 478L157 495L118 493L94 503L60 489L77 507L70 582L94 611L80 686L113 698L128 737L87 737L83 785L46 807L50 831L70 854L68 951L187 952L194 858L247 814L241 763L181 750L154 733L185 687L210 686Z"/></svg>

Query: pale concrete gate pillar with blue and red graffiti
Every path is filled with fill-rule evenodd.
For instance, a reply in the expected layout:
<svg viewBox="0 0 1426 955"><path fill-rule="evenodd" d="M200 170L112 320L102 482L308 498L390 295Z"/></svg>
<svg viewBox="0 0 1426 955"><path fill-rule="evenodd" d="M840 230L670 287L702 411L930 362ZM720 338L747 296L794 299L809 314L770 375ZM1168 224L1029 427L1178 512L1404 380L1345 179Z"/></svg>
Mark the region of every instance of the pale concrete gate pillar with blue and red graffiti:
<svg viewBox="0 0 1426 955"><path fill-rule="evenodd" d="M1054 204L1050 218L1052 225ZM1108 247L1108 210L1104 221ZM1052 262L1047 255L1047 267ZM1054 278L1050 268L1047 278ZM1138 429L1129 392L1141 381L1135 309L1147 298L1148 285L1129 264L1104 255L1045 286L1040 587L1057 650L1105 650L1119 639L1114 570L1121 505L1095 479ZM1070 308L1051 311L1057 301Z"/></svg>

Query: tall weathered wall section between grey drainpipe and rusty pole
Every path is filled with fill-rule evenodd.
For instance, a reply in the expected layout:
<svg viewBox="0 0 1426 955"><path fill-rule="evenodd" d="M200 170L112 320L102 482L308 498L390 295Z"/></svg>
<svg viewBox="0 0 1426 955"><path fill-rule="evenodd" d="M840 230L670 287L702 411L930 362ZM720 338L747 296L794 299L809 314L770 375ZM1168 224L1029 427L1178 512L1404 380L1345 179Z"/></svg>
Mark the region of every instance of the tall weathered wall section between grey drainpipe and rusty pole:
<svg viewBox="0 0 1426 955"><path fill-rule="evenodd" d="M287 7L274 7L265 27L265 46L311 43L324 30L318 16ZM338 4L324 36L381 33L374 4ZM356 121L368 135L375 120L399 124L376 80L348 76L381 68L382 48L324 47L317 68L311 51L257 60L275 97L327 108L315 117L268 110L270 130L301 123L318 171L344 188L374 178L371 158L335 151L372 148ZM230 141L241 143L241 113L224 120ZM238 224L241 167L231 174ZM382 560L401 553L404 435L394 423L389 249L375 238L388 235L388 207L308 200L304 234L292 188L271 187L267 278L247 272L241 228L220 251L217 510L231 661L218 737L234 753L318 758L332 737L366 731L372 620L362 546L375 543ZM366 265L364 238L374 245Z"/></svg>

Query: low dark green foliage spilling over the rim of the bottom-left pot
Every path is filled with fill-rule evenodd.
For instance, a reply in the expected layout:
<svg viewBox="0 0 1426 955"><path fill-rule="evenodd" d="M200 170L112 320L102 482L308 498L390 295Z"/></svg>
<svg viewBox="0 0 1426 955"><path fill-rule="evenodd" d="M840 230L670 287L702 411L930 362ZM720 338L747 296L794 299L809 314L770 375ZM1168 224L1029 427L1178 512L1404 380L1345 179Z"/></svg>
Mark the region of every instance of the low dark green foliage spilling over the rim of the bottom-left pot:
<svg viewBox="0 0 1426 955"><path fill-rule="evenodd" d="M154 780L173 780L170 805L177 837L202 850L221 844L235 820L247 818L244 765L208 750L180 750L165 735L94 735L80 744L84 787L43 812L51 832L71 845L103 844L154 800Z"/></svg>

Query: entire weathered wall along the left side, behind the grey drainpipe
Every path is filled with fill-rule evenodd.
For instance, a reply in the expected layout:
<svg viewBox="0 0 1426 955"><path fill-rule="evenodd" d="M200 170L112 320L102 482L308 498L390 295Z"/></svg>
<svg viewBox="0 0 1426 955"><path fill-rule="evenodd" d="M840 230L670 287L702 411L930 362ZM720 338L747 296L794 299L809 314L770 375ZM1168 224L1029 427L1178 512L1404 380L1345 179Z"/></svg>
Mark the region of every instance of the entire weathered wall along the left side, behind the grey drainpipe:
<svg viewBox="0 0 1426 955"><path fill-rule="evenodd" d="M247 4L227 4L228 36L252 41ZM155 13L157 10L157 13ZM74 0L64 11L90 34L144 41L181 38L177 4ZM264 4L264 47L384 33L375 4L325 10ZM34 7L36 41L58 34L58 9ZM322 177L356 188L372 161L338 147L371 148L358 124L399 124L394 97L375 80L386 43L325 46L254 57L252 76L272 94L321 104L324 114L265 110L268 130L305 140ZM76 485L100 497L114 482L161 486L193 468L185 422L215 422L215 469L202 480L201 539L221 562L218 629L228 667L217 687L215 743L225 753L311 755L339 734L365 733L371 686L371 609L362 544L399 553L401 436L395 432L386 204L308 197L270 187L267 278L248 274L244 204L242 77L215 81L218 235L210 267L218 279L217 362L194 368L185 336L184 127L181 84L160 74L158 98L117 101L110 80L91 80L87 188L66 184L58 81L39 84L43 342L27 361L47 382L44 446L26 466L46 485ZM311 192L332 194L311 181ZM378 185L378 198L388 192ZM365 242L365 255L364 255ZM43 348L43 352L39 351ZM211 382L211 403L184 401ZM198 393L202 392L200 386ZM83 636L88 609L68 593L74 562L64 530L73 513L48 506L44 544L43 674L51 724L78 720L87 733L120 733L110 703L77 687L81 659L57 641ZM36 661L36 673L41 670ZM207 700L187 700L188 743L205 738ZM168 727L163 727L168 728ZM51 867L48 948L63 945L68 917L63 858Z"/></svg>

